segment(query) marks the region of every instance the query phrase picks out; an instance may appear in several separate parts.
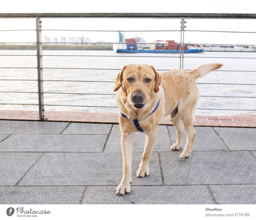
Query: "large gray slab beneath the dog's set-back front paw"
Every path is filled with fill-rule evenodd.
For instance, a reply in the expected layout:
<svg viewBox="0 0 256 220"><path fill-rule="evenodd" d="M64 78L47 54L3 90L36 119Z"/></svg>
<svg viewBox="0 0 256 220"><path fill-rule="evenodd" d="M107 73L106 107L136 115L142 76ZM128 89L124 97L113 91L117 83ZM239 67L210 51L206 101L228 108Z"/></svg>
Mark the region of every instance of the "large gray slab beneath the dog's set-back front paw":
<svg viewBox="0 0 256 220"><path fill-rule="evenodd" d="M157 153L151 156L149 176L135 176L141 156L141 153L133 153L132 183L162 185ZM117 186L122 179L122 161L121 153L44 153L19 186Z"/></svg>

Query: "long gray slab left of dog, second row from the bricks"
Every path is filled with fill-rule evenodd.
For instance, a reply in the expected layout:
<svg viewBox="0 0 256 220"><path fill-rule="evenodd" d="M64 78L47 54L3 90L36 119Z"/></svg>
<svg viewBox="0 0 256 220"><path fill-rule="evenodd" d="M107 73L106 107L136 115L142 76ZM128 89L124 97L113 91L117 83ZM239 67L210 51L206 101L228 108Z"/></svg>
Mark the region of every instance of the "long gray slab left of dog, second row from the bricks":
<svg viewBox="0 0 256 220"><path fill-rule="evenodd" d="M107 135L16 135L1 142L1 151L102 152Z"/></svg>

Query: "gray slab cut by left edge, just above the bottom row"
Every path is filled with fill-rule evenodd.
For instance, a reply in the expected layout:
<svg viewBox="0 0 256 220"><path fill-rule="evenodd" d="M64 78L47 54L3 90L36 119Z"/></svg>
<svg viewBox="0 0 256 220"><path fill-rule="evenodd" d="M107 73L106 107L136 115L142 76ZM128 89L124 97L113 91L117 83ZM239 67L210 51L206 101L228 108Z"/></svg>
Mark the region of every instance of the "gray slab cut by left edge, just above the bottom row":
<svg viewBox="0 0 256 220"><path fill-rule="evenodd" d="M41 155L41 153L1 153L0 186L15 186Z"/></svg>

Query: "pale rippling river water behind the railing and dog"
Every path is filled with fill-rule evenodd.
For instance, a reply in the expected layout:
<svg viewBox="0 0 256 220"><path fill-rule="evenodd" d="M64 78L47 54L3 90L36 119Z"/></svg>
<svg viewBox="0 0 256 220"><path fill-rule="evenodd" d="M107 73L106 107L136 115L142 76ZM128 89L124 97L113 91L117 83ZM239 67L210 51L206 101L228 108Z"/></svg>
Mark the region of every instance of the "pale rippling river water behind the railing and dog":
<svg viewBox="0 0 256 220"><path fill-rule="evenodd" d="M35 50L0 50L0 55L36 55ZM103 93L115 94L114 82L58 82L57 80L81 81L115 81L115 77L126 64L150 64L158 72L161 70L179 69L179 54L117 54L114 51L80 51L80 50L44 50L43 57L44 103L45 110L73 110L84 112L118 112L117 108L81 107L81 106L116 106L115 95L77 95L51 93ZM84 55L84 57L64 57L58 55ZM107 57L95 57L107 56ZM114 57L108 57L114 56ZM117 57L121 56L121 57ZM139 57L132 57L139 56ZM150 57L153 56L153 57ZM163 57L165 56L165 57ZM184 69L190 70L201 64L221 63L222 72L215 71L197 80L198 83L228 83L245 85L216 85L198 84L200 95L217 97L200 97L198 108L213 110L197 110L197 115L256 115L255 98L225 98L220 96L255 97L256 57L255 52L204 52L200 54L185 54ZM211 58L214 57L214 58ZM222 58L235 57L235 58ZM37 103L37 93L8 93L37 92L36 56L0 56L0 103ZM35 67L31 69L16 69L13 67ZM47 69L56 68L56 69ZM60 69L60 68L88 68ZM98 68L102 70L92 70ZM108 70L117 69L117 70ZM243 72L245 71L245 72ZM250 72L252 71L252 72ZM254 71L254 72L253 72ZM4 79L4 80L3 80ZM13 79L12 81L8 81ZM56 80L56 81L55 81ZM47 105L73 105L47 106ZM78 106L78 107L76 107ZM0 110L38 110L34 105L0 105ZM217 110L237 109L237 110ZM246 111L242 111L246 110Z"/></svg>

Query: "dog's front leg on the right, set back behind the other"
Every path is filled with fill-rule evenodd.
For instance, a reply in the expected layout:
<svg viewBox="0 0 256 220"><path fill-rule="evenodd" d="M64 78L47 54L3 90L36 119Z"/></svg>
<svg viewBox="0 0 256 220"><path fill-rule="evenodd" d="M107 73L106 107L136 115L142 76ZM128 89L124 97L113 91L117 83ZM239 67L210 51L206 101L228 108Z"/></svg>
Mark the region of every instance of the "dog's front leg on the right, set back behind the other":
<svg viewBox="0 0 256 220"><path fill-rule="evenodd" d="M136 176L139 178L146 177L149 174L148 165L149 165L152 149L156 141L156 136L157 136L157 128L151 131L150 133L146 133L144 152L142 155L139 169L136 172Z"/></svg>

